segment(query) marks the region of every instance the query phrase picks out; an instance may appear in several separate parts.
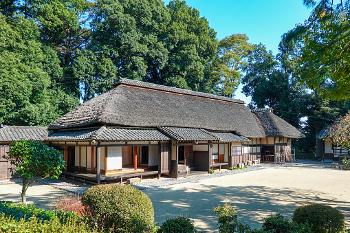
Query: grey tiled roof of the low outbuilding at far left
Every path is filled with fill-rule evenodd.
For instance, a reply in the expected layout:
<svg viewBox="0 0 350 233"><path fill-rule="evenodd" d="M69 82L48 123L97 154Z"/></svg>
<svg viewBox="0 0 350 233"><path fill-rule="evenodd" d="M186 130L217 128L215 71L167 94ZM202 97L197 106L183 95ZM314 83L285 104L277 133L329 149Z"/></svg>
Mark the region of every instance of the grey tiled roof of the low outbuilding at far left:
<svg viewBox="0 0 350 233"><path fill-rule="evenodd" d="M43 141L47 137L47 127L40 126L2 126L0 128L0 142L13 140Z"/></svg>

